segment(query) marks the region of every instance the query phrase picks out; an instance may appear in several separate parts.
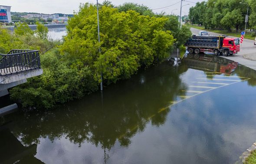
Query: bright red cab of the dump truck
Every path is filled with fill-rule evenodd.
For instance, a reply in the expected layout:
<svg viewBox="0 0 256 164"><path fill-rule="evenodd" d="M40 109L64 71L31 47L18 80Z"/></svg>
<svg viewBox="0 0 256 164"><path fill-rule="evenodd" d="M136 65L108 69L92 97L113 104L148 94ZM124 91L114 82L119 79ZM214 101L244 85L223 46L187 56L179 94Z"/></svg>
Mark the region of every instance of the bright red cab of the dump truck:
<svg viewBox="0 0 256 164"><path fill-rule="evenodd" d="M239 38L224 38L223 39L223 54L236 54L240 51Z"/></svg>

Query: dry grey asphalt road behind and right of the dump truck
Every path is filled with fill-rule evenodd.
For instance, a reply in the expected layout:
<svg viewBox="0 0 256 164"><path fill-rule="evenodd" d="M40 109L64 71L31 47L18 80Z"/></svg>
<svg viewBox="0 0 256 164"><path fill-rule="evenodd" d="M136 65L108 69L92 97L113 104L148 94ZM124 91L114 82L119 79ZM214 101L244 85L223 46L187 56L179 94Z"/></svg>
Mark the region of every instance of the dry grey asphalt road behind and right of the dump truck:
<svg viewBox="0 0 256 164"><path fill-rule="evenodd" d="M198 32L201 31L197 28L190 28L190 30L193 33L193 35L198 35ZM224 34L217 34L214 32L208 32L208 34L210 34L210 36L224 35ZM236 38L233 36L228 36L228 37ZM235 55L230 55L228 57L224 57L224 56L220 56L220 57L224 57L226 59L236 61L244 66L248 66L249 68L256 70L256 46L253 45L253 43L254 43L253 40L243 39L243 43L240 44L240 52L239 53L237 53ZM250 56L253 56L253 58L252 58L253 60L244 58L243 56L246 54L250 54ZM253 55L253 54L255 54L255 55Z"/></svg>

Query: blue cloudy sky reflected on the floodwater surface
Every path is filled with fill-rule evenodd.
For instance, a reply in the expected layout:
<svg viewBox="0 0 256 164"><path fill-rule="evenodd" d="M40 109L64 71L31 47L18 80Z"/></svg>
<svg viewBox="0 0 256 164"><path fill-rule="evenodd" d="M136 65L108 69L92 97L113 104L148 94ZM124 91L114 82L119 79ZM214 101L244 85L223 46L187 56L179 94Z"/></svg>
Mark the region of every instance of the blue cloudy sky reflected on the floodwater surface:
<svg viewBox="0 0 256 164"><path fill-rule="evenodd" d="M188 69L181 79L190 85L200 73ZM104 154L101 144L85 141L79 147L63 134L53 142L40 139L35 157L56 164L103 163L104 157L110 164L234 163L256 139L256 88L246 83L214 89L169 107L164 124L147 123L142 132L131 137L128 147L116 140Z"/></svg>

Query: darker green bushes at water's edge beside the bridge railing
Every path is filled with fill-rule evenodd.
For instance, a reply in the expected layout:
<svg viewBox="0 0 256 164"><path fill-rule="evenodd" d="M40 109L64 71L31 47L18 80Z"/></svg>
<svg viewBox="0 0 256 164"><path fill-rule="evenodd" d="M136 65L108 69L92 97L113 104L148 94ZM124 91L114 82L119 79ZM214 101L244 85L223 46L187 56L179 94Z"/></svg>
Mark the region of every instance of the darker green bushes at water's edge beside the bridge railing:
<svg viewBox="0 0 256 164"><path fill-rule="evenodd" d="M88 67L71 68L58 54L58 50L52 50L41 56L43 75L14 87L10 91L11 98L21 102L24 108L48 109L56 103L81 98L85 93L97 89L97 83Z"/></svg>

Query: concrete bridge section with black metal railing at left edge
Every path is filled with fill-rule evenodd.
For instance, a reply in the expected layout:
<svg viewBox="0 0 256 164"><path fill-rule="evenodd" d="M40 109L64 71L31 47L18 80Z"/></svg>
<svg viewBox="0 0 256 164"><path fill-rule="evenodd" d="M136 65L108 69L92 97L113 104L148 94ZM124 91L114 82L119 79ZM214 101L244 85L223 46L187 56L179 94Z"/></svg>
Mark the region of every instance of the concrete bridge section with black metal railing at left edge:
<svg viewBox="0 0 256 164"><path fill-rule="evenodd" d="M11 50L8 54L0 54L0 97L9 94L8 88L23 84L26 79L42 73L39 50ZM2 107L0 116L16 109L17 104Z"/></svg>

